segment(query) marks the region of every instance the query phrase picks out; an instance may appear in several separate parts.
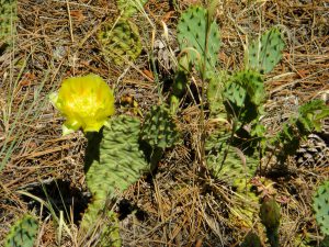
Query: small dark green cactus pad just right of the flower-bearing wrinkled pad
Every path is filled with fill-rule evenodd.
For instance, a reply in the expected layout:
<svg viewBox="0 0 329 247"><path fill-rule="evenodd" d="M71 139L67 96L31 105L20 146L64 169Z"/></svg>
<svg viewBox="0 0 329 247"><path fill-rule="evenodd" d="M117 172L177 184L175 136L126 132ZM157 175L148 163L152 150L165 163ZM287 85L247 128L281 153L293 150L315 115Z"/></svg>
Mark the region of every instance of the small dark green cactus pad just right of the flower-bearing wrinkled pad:
<svg viewBox="0 0 329 247"><path fill-rule="evenodd" d="M179 138L175 123L170 114L170 110L163 105L152 106L145 117L140 137L152 148L172 147Z"/></svg>

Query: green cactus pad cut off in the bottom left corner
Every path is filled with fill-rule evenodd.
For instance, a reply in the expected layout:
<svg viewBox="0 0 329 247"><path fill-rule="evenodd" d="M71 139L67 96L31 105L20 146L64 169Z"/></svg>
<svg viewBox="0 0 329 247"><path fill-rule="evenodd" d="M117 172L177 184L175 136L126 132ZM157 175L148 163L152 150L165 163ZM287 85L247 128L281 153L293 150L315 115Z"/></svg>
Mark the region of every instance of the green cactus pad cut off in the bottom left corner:
<svg viewBox="0 0 329 247"><path fill-rule="evenodd" d="M33 247L37 231L38 222L31 215L25 215L11 227L4 247Z"/></svg>

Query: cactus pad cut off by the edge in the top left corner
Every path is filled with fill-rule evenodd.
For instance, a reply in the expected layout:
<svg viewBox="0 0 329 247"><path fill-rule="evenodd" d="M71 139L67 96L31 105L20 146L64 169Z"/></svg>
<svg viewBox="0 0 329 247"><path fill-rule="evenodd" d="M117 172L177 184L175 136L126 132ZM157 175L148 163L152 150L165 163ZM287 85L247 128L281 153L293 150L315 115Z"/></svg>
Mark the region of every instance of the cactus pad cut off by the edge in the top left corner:
<svg viewBox="0 0 329 247"><path fill-rule="evenodd" d="M16 0L0 0L0 46L10 44L18 19Z"/></svg>

